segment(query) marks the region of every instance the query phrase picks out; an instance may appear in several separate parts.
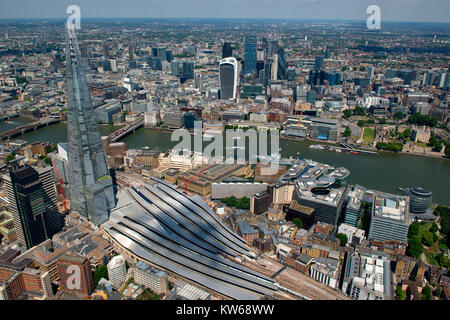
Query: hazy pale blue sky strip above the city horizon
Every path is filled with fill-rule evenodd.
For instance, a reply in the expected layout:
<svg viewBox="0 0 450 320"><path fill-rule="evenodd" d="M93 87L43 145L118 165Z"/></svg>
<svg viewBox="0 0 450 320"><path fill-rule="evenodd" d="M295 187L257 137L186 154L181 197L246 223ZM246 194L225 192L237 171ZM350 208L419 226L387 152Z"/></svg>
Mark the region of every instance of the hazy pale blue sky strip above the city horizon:
<svg viewBox="0 0 450 320"><path fill-rule="evenodd" d="M0 0L0 19L63 18L78 5L81 18L283 18L450 22L450 0Z"/></svg>

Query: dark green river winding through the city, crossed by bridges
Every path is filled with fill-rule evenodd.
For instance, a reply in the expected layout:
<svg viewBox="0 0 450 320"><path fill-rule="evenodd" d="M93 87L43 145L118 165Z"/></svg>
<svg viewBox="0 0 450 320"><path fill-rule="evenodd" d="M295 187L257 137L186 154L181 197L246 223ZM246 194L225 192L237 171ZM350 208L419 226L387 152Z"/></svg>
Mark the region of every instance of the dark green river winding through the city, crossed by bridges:
<svg viewBox="0 0 450 320"><path fill-rule="evenodd" d="M27 123L29 120L15 118L12 122L0 123L0 132ZM102 135L108 135L119 127L99 126ZM129 148L148 147L161 152L173 148L178 141L171 141L171 133L151 129L139 129L134 134L122 139ZM29 132L16 139L50 141L53 143L67 141L67 125L59 123ZM206 144L208 144L207 142ZM349 183L364 187L399 193L396 187L421 186L433 192L433 202L450 206L450 161L408 154L381 152L378 155L336 153L327 150L311 149L314 144L309 141L280 140L282 157L300 157L323 162L350 170Z"/></svg>

